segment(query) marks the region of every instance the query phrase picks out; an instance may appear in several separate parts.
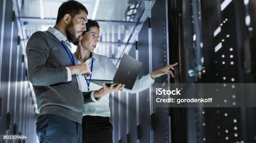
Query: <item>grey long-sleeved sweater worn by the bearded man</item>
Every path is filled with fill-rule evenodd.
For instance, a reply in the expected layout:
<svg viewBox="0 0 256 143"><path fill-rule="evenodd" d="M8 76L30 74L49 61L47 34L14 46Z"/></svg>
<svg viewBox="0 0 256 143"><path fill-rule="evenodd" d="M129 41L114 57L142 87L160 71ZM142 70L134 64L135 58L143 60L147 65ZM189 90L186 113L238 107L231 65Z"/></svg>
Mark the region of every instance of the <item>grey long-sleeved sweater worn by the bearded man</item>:
<svg viewBox="0 0 256 143"><path fill-rule="evenodd" d="M91 92L79 90L76 75L67 82L65 67L73 65L60 41L48 31L35 32L28 40L26 53L39 116L51 113L82 123L84 102L93 102Z"/></svg>

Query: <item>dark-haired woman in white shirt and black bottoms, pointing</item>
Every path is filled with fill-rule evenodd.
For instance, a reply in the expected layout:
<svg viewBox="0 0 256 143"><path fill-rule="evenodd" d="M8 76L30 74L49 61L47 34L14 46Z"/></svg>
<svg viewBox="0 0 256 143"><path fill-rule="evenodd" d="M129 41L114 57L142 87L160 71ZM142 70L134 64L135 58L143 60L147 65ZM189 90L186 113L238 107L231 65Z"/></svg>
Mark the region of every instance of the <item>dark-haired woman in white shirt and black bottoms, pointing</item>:
<svg viewBox="0 0 256 143"><path fill-rule="evenodd" d="M87 31L77 44L77 64L85 63L91 69L91 76L86 77L79 75L78 84L82 91L91 91L100 89L101 86L86 81L91 79L112 80L116 71L115 65L106 56L95 54L93 51L99 42L100 26L95 20L88 20L86 24ZM141 79L136 80L132 90L123 89L130 93L136 93L148 89L156 77L169 74L174 77L170 68L174 70L177 63L168 65L164 68L156 70ZM84 113L82 118L83 143L112 143L113 142L113 126L110 123L109 94L101 97L97 102L84 104Z"/></svg>

